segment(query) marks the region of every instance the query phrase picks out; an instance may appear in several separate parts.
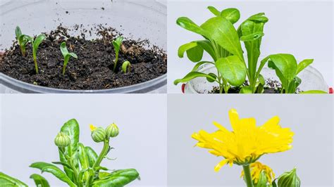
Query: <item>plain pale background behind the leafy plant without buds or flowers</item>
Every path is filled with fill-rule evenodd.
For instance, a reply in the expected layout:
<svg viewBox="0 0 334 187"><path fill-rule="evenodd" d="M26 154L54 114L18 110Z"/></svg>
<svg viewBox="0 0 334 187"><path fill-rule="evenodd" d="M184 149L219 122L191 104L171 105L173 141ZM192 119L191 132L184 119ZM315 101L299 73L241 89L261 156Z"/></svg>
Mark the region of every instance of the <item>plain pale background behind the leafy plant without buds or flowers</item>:
<svg viewBox="0 0 334 187"><path fill-rule="evenodd" d="M261 56L291 53L299 61L314 58L312 66L333 86L332 1L168 1L168 93L181 92L181 84L174 86L173 81L183 78L194 66L187 58L178 58L178 47L202 39L176 25L175 21L186 16L201 25L213 17L207 6L218 10L238 8L241 17L237 26L250 15L266 13L269 21L264 27ZM211 58L205 56L204 60Z"/></svg>

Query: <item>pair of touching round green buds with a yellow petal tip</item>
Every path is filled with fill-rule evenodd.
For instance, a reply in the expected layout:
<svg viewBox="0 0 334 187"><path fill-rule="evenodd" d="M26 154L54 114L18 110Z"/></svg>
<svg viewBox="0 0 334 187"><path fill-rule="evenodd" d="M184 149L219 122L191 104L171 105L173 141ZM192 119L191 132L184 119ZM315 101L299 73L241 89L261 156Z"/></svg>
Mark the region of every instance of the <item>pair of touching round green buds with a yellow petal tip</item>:
<svg viewBox="0 0 334 187"><path fill-rule="evenodd" d="M90 129L92 130L93 141L97 143L114 138L119 134L119 129L114 123L110 124L106 129L103 127L94 127L93 125L90 126Z"/></svg>

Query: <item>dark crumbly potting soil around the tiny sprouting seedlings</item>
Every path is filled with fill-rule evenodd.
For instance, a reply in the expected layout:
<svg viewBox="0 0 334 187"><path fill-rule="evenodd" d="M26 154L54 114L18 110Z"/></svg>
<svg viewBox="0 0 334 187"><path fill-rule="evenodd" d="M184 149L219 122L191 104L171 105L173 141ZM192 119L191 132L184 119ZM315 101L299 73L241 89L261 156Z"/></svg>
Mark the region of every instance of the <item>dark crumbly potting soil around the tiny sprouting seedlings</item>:
<svg viewBox="0 0 334 187"><path fill-rule="evenodd" d="M76 27L78 30L80 26ZM84 31L92 34L91 30ZM37 50L39 74L35 72L32 46L27 44L27 56L22 56L15 41L10 49L0 56L0 72L30 84L57 89L111 89L147 82L167 72L167 55L147 40L124 39L118 56L116 71L113 72L115 51L111 41L120 36L109 27L97 28L98 39L87 40L85 33L70 36L68 29L59 26L47 35ZM24 34L24 33L23 33ZM66 74L62 74L63 55L59 49L66 41L69 52L78 59L70 58ZM122 63L131 63L129 72L122 72Z"/></svg>

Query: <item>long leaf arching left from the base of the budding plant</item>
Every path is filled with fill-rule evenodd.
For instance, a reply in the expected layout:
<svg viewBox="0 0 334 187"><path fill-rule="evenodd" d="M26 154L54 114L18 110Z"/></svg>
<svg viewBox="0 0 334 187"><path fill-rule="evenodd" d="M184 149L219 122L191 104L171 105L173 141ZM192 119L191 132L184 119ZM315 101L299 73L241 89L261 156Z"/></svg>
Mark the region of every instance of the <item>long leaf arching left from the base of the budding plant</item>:
<svg viewBox="0 0 334 187"><path fill-rule="evenodd" d="M55 165L51 165L47 162L35 162L32 163L30 167L41 169L42 173L49 172L54 176L56 176L61 181L68 183L69 186L76 186L75 183L73 183L73 181L71 181L70 178L68 178L68 176Z"/></svg>

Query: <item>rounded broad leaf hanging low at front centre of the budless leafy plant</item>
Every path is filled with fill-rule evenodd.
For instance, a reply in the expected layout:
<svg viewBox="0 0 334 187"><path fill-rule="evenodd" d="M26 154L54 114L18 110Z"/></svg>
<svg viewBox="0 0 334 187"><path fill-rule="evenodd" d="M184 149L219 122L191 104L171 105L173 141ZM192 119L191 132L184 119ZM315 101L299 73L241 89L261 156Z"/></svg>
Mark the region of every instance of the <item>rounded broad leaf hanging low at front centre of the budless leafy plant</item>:
<svg viewBox="0 0 334 187"><path fill-rule="evenodd" d="M237 56L219 58L216 68L221 76L233 86L240 86L246 79L246 67Z"/></svg>

